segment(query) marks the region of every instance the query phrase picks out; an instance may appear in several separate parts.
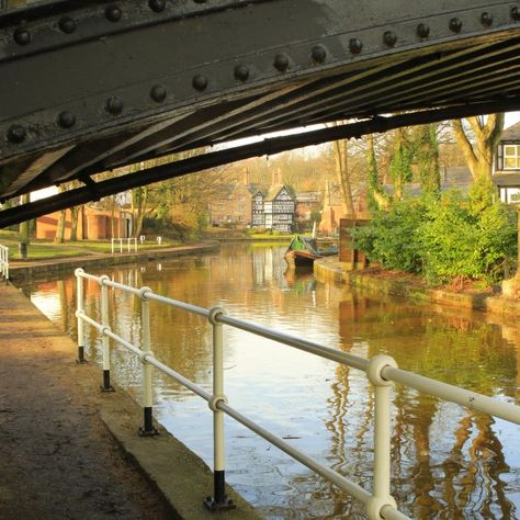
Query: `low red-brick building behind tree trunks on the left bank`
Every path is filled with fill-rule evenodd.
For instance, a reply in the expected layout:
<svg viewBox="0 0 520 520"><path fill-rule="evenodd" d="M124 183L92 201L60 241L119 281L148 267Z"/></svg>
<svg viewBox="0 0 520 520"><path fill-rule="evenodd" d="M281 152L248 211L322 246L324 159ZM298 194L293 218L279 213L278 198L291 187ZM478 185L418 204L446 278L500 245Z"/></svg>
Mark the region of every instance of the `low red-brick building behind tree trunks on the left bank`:
<svg viewBox="0 0 520 520"><path fill-rule="evenodd" d="M59 221L59 212L49 213L36 221L36 238L53 239ZM65 238L70 238L70 210L66 212ZM78 212L77 238L104 240L110 238L126 238L132 233L132 216L123 210L112 212L92 206L80 206Z"/></svg>

